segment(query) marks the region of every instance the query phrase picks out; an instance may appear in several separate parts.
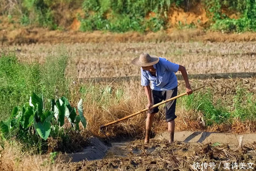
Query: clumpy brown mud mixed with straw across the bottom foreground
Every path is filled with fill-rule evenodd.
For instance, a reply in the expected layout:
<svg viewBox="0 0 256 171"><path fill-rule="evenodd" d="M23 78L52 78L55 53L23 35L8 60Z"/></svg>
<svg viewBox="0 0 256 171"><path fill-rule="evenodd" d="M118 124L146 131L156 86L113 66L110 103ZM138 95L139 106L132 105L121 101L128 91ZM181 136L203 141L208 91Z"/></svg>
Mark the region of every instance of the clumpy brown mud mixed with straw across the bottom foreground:
<svg viewBox="0 0 256 171"><path fill-rule="evenodd" d="M231 170L232 167L236 169L236 165L238 169L240 166L245 167L246 170L255 170L253 165L256 165L255 141L244 144L241 148L225 143L200 144L175 141L169 144L165 139L152 139L149 144L144 144L143 140L136 140L123 146L119 145L116 145L112 154L108 152L104 159L70 163L68 169L90 171L227 170L224 164L229 163ZM212 165L211 168L210 163L214 163L215 168ZM248 163L253 163L250 168L248 168Z"/></svg>

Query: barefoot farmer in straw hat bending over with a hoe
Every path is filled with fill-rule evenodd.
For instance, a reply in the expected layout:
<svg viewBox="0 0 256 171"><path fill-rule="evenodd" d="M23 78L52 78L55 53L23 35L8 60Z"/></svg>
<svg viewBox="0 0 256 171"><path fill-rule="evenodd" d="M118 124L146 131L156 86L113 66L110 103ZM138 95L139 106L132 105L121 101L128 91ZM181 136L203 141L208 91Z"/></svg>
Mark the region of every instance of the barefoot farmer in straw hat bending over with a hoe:
<svg viewBox="0 0 256 171"><path fill-rule="evenodd" d="M148 99L147 108L149 110L147 113L144 143L149 143L149 135L154 115L159 111L158 107L152 109L152 106L163 100L177 96L178 82L174 73L177 71L181 72L186 83L187 95L192 94L193 91L188 81L186 68L182 65L172 63L165 58L149 55L147 53L142 53L140 57L134 58L132 64L141 67L141 85L144 86ZM175 115L175 108L176 99L166 103L165 119L168 122L168 132L170 136L169 143L173 143L174 141L174 119L177 117Z"/></svg>

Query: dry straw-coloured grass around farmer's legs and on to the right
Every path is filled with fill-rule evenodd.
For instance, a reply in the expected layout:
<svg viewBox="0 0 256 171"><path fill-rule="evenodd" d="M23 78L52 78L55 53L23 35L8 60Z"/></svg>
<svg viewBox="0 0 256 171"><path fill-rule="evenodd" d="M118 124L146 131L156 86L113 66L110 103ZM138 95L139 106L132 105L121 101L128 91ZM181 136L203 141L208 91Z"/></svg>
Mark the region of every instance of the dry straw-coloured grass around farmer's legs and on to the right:
<svg viewBox="0 0 256 171"><path fill-rule="evenodd" d="M214 92L214 101L221 99L223 105L232 105L232 99L235 95L235 88L240 85L249 92L256 93L255 78L251 79L219 79L219 80L191 80L192 87L198 87L200 85L209 82L208 88ZM86 118L88 121L88 129L93 134L101 135L99 127L102 124L115 121L123 118L129 114L138 112L145 108L147 104L146 96L144 95L144 89L140 85L139 81L131 80L130 82L123 83L107 83L112 87L112 95L105 97L101 100L95 100L95 96L101 94L101 91L93 92L88 90L89 93L82 94L81 96L85 101ZM106 83L100 83L101 90L106 87ZM99 86L98 85L98 86ZM90 85L95 86L95 85ZM97 85L96 85L97 86ZM223 88L223 86L229 86ZM89 85L87 86L89 87ZM123 96L120 101L116 100L115 92L122 87ZM100 88L99 88L100 90ZM206 90L201 90L206 91ZM179 81L178 94L185 92L184 81ZM225 93L223 93L225 92ZM97 95L96 95L97 94ZM105 103L104 100L109 100ZM153 124L154 132L162 132L167 130L167 123L165 122L164 106L159 107L160 111L155 115L155 121ZM214 124L210 127L206 127L203 122L203 114L195 111L187 111L182 103L178 103L176 107L176 130L177 131L223 131L223 132L235 132L235 133L248 133L255 132L254 126L256 125L252 121L235 121L231 123ZM144 127L146 120L146 112L127 119L118 124L108 126L105 131L109 136L126 135L137 138L144 136ZM248 128L251 127L250 130Z"/></svg>

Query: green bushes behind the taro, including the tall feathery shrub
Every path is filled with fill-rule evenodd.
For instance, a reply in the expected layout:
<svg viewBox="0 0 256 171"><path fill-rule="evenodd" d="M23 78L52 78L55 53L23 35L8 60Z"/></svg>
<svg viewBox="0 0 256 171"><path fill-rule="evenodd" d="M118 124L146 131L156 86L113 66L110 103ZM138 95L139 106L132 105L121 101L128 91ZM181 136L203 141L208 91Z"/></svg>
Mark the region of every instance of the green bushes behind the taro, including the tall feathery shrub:
<svg viewBox="0 0 256 171"><path fill-rule="evenodd" d="M67 76L67 70L72 70L73 65L64 46L57 52L48 56L43 65L18 62L12 51L1 53L0 119L7 118L14 106L24 104L32 92L43 93L45 99L70 98L69 86L75 78Z"/></svg>

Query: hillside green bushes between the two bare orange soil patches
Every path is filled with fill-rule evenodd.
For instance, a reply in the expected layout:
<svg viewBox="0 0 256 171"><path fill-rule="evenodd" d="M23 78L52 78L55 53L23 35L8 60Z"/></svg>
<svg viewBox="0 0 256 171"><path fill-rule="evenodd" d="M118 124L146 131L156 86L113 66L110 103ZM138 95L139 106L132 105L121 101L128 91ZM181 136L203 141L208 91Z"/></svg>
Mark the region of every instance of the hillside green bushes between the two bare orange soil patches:
<svg viewBox="0 0 256 171"><path fill-rule="evenodd" d="M86 15L80 19L80 30L159 31L166 28L167 11L175 2L179 4L181 0L85 0L83 10ZM156 15L146 19L150 12Z"/></svg>

